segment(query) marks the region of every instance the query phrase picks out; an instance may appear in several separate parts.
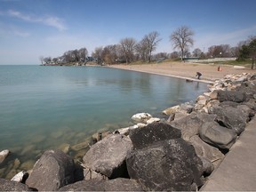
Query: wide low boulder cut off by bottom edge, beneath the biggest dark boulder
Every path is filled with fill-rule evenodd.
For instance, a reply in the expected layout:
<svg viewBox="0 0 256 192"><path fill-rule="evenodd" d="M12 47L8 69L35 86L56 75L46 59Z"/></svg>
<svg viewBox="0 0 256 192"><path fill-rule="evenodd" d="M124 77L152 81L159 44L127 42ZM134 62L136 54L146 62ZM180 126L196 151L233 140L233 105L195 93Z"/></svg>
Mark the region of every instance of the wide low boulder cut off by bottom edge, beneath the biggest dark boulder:
<svg viewBox="0 0 256 192"><path fill-rule="evenodd" d="M136 180L117 178L115 180L82 180L70 184L60 191L142 191Z"/></svg>

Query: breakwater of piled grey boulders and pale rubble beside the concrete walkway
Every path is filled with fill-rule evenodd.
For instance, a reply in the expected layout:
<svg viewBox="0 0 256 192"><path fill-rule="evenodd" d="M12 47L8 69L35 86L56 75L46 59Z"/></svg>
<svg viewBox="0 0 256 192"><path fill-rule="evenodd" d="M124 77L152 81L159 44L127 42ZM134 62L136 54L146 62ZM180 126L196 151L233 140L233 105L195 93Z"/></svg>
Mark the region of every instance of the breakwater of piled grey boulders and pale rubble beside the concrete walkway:
<svg viewBox="0 0 256 192"><path fill-rule="evenodd" d="M209 90L164 110L168 120L132 116L136 124L92 145L81 164L45 151L28 179L0 179L0 190L197 190L255 115L256 75L226 76Z"/></svg>

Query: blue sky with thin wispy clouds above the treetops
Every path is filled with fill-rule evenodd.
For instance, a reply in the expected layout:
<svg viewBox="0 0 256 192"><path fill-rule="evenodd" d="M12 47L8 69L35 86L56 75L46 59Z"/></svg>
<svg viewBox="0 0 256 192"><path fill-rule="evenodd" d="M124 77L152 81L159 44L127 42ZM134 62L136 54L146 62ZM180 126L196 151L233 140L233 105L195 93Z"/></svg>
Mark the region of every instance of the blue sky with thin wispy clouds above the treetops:
<svg viewBox="0 0 256 192"><path fill-rule="evenodd" d="M0 0L0 65L40 64L73 49L137 41L152 31L156 52L173 52L172 32L186 25L207 52L256 36L256 0Z"/></svg>

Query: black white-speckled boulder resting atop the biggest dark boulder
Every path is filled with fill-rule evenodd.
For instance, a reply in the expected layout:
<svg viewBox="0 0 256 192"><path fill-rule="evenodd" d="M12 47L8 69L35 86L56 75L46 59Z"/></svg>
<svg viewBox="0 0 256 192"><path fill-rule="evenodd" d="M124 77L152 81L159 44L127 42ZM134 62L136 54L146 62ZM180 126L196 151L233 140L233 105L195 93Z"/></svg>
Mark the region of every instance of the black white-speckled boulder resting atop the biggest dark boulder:
<svg viewBox="0 0 256 192"><path fill-rule="evenodd" d="M134 148L144 148L158 140L171 140L181 137L180 130L170 124L153 123L142 129L131 130L129 134Z"/></svg>

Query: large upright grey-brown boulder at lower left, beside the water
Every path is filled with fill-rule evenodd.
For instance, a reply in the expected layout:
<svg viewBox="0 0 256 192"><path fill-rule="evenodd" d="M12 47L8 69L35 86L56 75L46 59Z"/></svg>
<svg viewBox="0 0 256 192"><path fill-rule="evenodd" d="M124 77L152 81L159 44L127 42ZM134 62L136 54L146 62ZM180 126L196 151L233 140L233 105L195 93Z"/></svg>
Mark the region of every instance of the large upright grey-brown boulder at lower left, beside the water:
<svg viewBox="0 0 256 192"><path fill-rule="evenodd" d="M29 188L52 191L74 182L73 159L60 150L47 150L36 162L26 184Z"/></svg>

